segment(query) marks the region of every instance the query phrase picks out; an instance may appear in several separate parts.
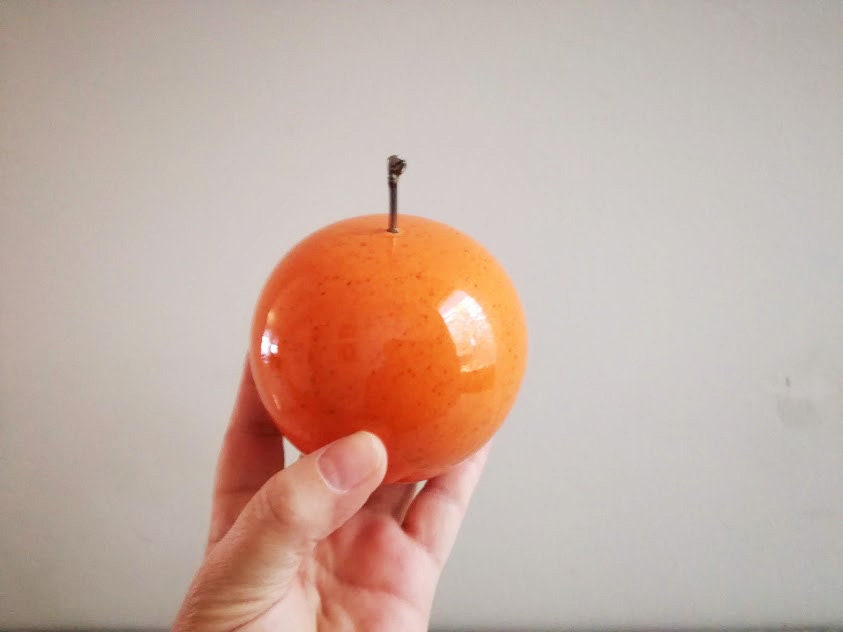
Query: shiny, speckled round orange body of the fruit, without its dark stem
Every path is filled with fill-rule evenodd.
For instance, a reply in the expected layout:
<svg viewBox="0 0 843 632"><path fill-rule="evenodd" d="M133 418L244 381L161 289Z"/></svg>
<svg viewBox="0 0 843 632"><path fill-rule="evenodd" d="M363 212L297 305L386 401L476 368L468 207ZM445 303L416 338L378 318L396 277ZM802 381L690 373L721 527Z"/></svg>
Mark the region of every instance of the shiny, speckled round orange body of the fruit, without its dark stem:
<svg viewBox="0 0 843 632"><path fill-rule="evenodd" d="M527 332L503 268L445 224L384 215L327 226L270 275L249 359L281 432L311 452L369 430L385 481L442 473L491 438L524 375Z"/></svg>

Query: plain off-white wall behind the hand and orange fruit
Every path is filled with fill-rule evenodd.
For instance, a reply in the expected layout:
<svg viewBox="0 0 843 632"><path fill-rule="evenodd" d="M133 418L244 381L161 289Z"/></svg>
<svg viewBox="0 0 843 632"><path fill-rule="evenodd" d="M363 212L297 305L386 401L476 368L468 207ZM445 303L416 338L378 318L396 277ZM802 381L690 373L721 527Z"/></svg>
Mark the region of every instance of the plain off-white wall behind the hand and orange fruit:
<svg viewBox="0 0 843 632"><path fill-rule="evenodd" d="M531 357L439 625L843 622L843 4L0 4L0 625L166 625L253 302L469 232Z"/></svg>

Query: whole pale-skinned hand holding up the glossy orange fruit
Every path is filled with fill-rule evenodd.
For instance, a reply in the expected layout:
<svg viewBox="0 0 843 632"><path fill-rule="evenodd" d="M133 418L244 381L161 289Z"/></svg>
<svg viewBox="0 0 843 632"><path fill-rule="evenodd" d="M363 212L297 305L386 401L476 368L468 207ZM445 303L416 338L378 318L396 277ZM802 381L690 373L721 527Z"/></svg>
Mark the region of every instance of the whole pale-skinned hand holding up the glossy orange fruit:
<svg viewBox="0 0 843 632"><path fill-rule="evenodd" d="M217 465L205 558L176 632L428 629L436 584L488 446L415 485L357 433L284 468L248 364Z"/></svg>

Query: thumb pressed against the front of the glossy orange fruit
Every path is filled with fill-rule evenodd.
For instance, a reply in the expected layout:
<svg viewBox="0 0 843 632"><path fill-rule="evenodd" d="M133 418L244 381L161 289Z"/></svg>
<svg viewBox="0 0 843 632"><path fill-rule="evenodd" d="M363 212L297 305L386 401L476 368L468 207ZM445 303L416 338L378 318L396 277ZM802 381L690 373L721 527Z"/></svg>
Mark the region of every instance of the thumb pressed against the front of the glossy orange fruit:
<svg viewBox="0 0 843 632"><path fill-rule="evenodd" d="M380 485L386 461L380 439L357 432L275 474L199 569L183 608L189 620L214 613L208 624L234 627L281 599L302 557Z"/></svg>

